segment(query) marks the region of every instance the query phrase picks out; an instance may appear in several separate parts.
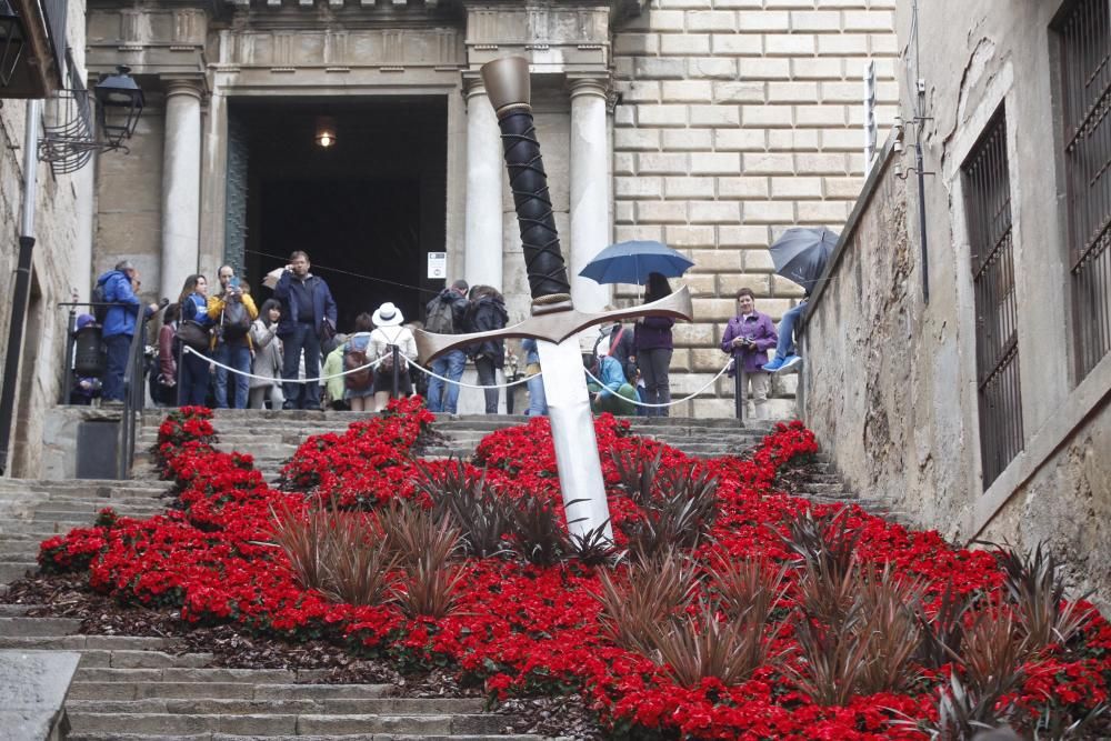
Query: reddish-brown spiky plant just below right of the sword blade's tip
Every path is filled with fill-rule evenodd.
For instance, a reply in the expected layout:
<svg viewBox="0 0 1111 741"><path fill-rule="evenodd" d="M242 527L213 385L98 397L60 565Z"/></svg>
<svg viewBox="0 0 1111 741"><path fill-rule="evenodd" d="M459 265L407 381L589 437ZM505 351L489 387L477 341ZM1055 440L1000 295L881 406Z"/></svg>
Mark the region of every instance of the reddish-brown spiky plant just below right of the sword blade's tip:
<svg viewBox="0 0 1111 741"><path fill-rule="evenodd" d="M618 645L650 657L655 650L657 627L690 604L695 589L694 565L675 551L643 561L630 561L619 584L605 571L599 573L595 595L602 611L602 632Z"/></svg>

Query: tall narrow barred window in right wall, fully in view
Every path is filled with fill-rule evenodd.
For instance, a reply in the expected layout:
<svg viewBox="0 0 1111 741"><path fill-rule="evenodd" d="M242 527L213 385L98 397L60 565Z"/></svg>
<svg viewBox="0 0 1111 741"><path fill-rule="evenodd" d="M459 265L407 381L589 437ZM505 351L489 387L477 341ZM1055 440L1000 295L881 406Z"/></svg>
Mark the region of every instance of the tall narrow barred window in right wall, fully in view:
<svg viewBox="0 0 1111 741"><path fill-rule="evenodd" d="M980 458L987 489L1022 450L1018 301L1003 109L992 117L961 171L972 248Z"/></svg>

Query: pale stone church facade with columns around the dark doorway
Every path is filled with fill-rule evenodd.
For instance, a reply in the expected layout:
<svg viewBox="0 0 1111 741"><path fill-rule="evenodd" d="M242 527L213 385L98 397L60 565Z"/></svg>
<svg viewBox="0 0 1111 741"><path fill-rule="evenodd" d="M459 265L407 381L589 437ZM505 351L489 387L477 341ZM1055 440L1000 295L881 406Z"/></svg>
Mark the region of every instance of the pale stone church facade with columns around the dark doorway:
<svg viewBox="0 0 1111 741"><path fill-rule="evenodd" d="M383 263L422 270L426 252L444 251L450 277L500 288L511 318L521 318L528 299L516 218L478 70L524 54L572 271L624 239L663 240L697 263L685 279L697 319L675 333L672 387L683 395L723 364L717 342L738 288L752 287L777 319L799 298L771 274L769 241L797 223L843 223L864 169L868 60L877 67L879 120L894 117L893 6L93 0L91 69L123 61L150 93L131 156L98 164L96 269L130 257L170 298L187 274L211 274L226 260L257 282L263 269L281 264L277 252L288 236L274 233L282 213L260 207L260 198L303 176L321 183L302 189L310 212L302 222L320 220L303 248L320 266L379 279L356 294L366 304L360 310L393 300L407 316L418 313L430 294L409 287L434 291L442 283L383 273ZM338 129L327 163L302 147L323 114ZM422 133L407 139L399 129ZM376 212L382 233L367 243L347 239L350 232L328 238L326 221L363 207L336 209L351 200L341 192L331 203L310 203L308 191L352 178L367 181L374 196L363 206L371 209L389 200L382 183L390 190L412 181L416 236L389 231L382 224L390 217ZM351 267L359 250L382 257ZM628 289L614 296L579 279L573 293L577 304L595 310L634 300ZM731 388L719 383L674 413L731 413ZM791 413L793 383L780 392L774 412Z"/></svg>

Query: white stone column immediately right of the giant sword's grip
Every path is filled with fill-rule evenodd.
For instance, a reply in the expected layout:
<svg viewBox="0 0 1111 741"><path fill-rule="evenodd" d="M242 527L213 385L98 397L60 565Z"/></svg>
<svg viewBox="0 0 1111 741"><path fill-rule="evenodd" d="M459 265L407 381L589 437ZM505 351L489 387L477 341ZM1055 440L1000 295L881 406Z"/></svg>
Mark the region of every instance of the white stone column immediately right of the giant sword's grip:
<svg viewBox="0 0 1111 741"><path fill-rule="evenodd" d="M571 86L571 259L574 307L597 312L610 302L610 287L579 271L610 241L610 150L605 83L572 79Z"/></svg>

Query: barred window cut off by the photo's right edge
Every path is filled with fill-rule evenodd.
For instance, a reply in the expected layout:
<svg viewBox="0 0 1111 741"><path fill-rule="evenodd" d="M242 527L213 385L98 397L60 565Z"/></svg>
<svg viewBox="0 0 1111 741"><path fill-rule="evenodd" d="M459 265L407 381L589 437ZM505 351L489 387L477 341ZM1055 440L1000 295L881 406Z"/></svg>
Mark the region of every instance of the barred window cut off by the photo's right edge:
<svg viewBox="0 0 1111 741"><path fill-rule="evenodd" d="M1077 378L1111 349L1109 0L1071 0L1053 23L1061 62Z"/></svg>

